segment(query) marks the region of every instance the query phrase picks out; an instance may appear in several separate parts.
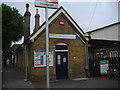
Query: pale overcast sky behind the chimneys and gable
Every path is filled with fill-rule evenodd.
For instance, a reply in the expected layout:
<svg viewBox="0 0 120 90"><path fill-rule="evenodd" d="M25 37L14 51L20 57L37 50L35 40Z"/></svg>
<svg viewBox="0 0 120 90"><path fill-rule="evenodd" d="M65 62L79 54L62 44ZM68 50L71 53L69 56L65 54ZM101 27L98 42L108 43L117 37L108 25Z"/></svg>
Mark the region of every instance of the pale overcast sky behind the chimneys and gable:
<svg viewBox="0 0 120 90"><path fill-rule="evenodd" d="M10 0L9 0L10 1ZM29 3L31 12L31 33L34 28L34 15L35 9L34 2L16 2L17 0L12 0L14 2L4 2L5 4L15 7L18 9L19 13L24 15L25 4ZM75 20L75 22L82 28L84 32L91 31L112 23L118 22L118 2L106 0L101 2L100 0L87 0L87 1L76 1L72 0L59 0L59 7L63 8L70 14L70 16ZM38 8L40 14L40 24L45 20L44 8ZM55 12L56 9L49 9L49 16Z"/></svg>

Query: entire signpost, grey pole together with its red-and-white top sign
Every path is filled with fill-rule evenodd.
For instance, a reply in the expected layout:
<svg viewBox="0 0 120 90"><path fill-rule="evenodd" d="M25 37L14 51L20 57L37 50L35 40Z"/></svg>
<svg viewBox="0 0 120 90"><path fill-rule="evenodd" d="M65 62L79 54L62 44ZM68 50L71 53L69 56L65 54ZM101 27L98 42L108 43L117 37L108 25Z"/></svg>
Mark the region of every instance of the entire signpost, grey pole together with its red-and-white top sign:
<svg viewBox="0 0 120 90"><path fill-rule="evenodd" d="M49 29L48 29L48 8L58 8L58 0L35 0L35 7L45 8L46 21L46 85L50 88L49 78Z"/></svg>

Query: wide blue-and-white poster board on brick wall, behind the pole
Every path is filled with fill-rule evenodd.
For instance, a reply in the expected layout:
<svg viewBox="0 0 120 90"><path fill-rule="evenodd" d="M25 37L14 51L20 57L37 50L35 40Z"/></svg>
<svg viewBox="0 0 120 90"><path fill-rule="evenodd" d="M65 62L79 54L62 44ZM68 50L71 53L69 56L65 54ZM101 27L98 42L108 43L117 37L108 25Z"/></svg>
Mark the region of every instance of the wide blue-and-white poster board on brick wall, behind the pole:
<svg viewBox="0 0 120 90"><path fill-rule="evenodd" d="M53 66L53 52L49 52L49 66ZM45 51L34 51L34 67L46 67Z"/></svg>

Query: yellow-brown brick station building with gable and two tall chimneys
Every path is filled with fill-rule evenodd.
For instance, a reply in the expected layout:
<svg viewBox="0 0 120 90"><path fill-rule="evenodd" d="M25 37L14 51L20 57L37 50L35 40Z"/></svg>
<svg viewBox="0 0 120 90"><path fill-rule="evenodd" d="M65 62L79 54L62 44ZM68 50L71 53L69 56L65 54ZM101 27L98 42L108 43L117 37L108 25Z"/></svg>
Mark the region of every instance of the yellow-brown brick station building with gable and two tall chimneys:
<svg viewBox="0 0 120 90"><path fill-rule="evenodd" d="M17 66L30 80L43 80L45 64L45 23L39 25L38 9L35 29L30 35L30 12L26 4L24 43L16 49ZM71 79L85 76L87 40L82 29L63 7L49 17L50 79Z"/></svg>

